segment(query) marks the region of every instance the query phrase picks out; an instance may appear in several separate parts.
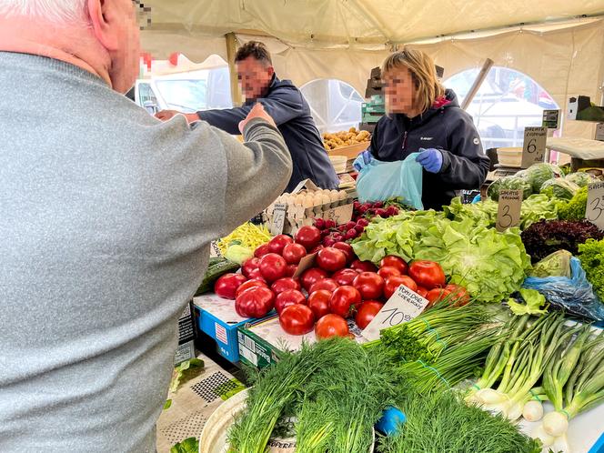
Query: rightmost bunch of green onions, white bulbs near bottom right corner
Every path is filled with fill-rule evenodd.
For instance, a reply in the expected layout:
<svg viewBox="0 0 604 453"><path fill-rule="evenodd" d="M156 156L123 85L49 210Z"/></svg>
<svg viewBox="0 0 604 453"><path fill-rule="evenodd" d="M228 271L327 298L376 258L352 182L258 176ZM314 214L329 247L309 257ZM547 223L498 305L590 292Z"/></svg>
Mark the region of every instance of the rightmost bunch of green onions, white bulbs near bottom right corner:
<svg viewBox="0 0 604 453"><path fill-rule="evenodd" d="M569 420L604 403L604 338L592 336L589 326L578 327L569 347L559 350L543 377L543 388L554 405L533 433L545 447L569 451Z"/></svg>

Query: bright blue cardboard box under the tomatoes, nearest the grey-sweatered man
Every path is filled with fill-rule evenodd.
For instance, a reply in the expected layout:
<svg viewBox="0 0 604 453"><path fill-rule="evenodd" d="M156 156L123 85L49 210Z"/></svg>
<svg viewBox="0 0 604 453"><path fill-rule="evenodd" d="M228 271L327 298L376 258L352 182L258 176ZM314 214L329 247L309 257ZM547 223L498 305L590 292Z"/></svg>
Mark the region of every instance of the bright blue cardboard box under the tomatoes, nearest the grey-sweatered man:
<svg viewBox="0 0 604 453"><path fill-rule="evenodd" d="M237 328L256 321L240 317L235 311L235 301L205 294L193 299L196 327L216 341L216 351L231 363L239 361Z"/></svg>

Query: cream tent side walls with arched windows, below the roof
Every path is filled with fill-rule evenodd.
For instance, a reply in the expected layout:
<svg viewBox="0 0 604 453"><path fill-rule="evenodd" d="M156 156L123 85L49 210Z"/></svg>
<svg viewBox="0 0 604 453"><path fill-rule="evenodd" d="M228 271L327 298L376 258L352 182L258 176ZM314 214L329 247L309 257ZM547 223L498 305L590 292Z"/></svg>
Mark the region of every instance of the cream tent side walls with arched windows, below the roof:
<svg viewBox="0 0 604 453"><path fill-rule="evenodd" d="M274 38L239 35L242 42L250 38L265 42L273 54L277 75L289 78L297 86L317 78L338 78L365 93L372 67L380 65L386 50L318 50L294 48ZM187 32L173 34L143 32L146 51L157 57L182 52L191 60L203 61L208 55L227 58L224 38L207 38ZM545 88L561 108L566 109L569 96L588 95L599 104L599 86L604 80L604 21L562 28L547 33L519 30L475 39L448 39L423 49L445 68L445 77L473 67L486 58L495 65L527 74ZM566 136L592 138L595 126L565 121Z"/></svg>

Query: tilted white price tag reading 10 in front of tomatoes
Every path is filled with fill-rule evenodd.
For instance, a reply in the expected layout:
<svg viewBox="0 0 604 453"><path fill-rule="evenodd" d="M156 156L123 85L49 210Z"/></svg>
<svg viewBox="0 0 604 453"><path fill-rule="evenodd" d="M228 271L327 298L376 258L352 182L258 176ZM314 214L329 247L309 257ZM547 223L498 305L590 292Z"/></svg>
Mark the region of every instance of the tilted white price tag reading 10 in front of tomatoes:
<svg viewBox="0 0 604 453"><path fill-rule="evenodd" d="M388 327L398 326L418 317L426 307L428 300L415 291L401 285L388 299L388 302L377 312L361 335L368 341L379 338L379 332Z"/></svg>

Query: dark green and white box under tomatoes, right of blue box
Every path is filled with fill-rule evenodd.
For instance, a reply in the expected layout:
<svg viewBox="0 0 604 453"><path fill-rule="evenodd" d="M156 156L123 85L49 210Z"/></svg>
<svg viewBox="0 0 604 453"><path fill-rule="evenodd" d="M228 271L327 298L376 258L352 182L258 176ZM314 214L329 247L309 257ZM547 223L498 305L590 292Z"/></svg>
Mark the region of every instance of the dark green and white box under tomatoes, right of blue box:
<svg viewBox="0 0 604 453"><path fill-rule="evenodd" d="M361 337L361 331L353 319L348 319L348 327L358 343L366 341ZM251 323L247 327L239 327L237 337L241 363L257 368L277 363L286 350L292 352L299 350L302 342L311 344L317 341L315 332L306 335L288 335L279 325L277 315Z"/></svg>

